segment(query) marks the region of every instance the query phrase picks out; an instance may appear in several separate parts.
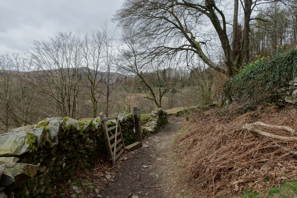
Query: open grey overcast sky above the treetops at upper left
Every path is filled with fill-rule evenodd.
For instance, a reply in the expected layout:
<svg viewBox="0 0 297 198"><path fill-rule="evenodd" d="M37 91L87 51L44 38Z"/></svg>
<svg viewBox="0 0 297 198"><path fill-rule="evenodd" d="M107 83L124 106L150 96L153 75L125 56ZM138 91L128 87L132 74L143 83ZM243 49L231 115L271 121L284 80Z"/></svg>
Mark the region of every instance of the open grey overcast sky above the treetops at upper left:
<svg viewBox="0 0 297 198"><path fill-rule="evenodd" d="M29 50L57 30L89 33L110 20L122 0L0 0L0 54ZM110 28L115 24L109 22Z"/></svg>

